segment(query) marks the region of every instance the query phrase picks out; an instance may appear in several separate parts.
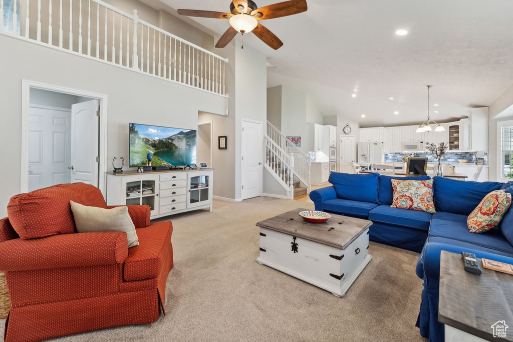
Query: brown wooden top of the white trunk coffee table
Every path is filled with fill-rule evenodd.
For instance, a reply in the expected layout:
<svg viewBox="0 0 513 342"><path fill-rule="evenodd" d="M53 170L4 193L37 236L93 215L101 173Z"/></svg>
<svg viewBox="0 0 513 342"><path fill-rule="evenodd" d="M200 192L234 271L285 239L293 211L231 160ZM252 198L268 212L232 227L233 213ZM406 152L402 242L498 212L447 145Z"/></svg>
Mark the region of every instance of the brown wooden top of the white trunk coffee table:
<svg viewBox="0 0 513 342"><path fill-rule="evenodd" d="M261 221L257 223L257 226L323 245L345 249L372 225L372 222L368 220L334 214L331 214L331 218L324 223L310 223L299 216L299 213L304 210L309 209L290 210Z"/></svg>

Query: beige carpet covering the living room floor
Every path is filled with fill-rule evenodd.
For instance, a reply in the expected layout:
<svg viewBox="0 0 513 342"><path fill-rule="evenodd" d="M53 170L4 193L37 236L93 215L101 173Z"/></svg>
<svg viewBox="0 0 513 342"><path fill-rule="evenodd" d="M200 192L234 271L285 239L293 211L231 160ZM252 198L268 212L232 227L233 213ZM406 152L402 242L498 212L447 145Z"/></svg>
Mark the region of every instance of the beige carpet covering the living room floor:
<svg viewBox="0 0 513 342"><path fill-rule="evenodd" d="M214 201L214 211L171 217L174 268L166 310L139 325L64 341L426 341L415 328L417 253L370 243L372 261L338 298L255 259L255 223L313 204L273 198Z"/></svg>

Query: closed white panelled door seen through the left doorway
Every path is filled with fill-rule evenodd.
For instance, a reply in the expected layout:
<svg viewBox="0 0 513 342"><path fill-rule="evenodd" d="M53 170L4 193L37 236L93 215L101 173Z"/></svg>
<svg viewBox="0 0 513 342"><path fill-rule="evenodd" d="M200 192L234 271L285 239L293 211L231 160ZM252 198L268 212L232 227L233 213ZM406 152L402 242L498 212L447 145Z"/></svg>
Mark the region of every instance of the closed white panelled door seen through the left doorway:
<svg viewBox="0 0 513 342"><path fill-rule="evenodd" d="M30 107L29 191L71 181L70 121L69 110Z"/></svg>

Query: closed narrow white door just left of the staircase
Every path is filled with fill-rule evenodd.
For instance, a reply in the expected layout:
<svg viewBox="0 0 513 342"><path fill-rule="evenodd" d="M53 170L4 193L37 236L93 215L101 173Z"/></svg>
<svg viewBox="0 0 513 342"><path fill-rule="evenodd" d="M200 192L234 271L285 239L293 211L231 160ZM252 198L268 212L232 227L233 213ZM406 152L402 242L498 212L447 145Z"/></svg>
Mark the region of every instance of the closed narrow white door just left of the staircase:
<svg viewBox="0 0 513 342"><path fill-rule="evenodd" d="M262 124L242 120L243 200L262 194Z"/></svg>

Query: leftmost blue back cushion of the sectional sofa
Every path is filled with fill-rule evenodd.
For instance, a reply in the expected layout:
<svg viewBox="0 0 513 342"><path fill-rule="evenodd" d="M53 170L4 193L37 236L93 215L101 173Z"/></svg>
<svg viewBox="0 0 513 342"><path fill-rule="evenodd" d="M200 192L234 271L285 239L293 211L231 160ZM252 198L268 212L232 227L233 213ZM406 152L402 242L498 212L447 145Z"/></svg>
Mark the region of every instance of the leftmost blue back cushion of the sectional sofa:
<svg viewBox="0 0 513 342"><path fill-rule="evenodd" d="M328 182L333 184L338 198L359 202L378 203L378 181L380 174L343 174L332 172Z"/></svg>

